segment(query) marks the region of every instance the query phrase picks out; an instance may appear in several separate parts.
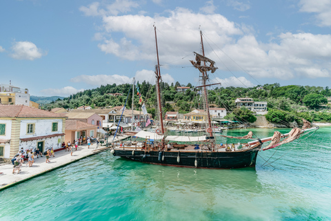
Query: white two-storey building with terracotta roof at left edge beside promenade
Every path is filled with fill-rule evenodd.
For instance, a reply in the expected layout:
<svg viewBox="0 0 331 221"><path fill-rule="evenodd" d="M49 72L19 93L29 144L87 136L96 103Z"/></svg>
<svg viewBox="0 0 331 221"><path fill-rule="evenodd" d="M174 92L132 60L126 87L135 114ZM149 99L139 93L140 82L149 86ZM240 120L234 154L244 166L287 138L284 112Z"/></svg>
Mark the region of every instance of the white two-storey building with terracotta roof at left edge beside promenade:
<svg viewBox="0 0 331 221"><path fill-rule="evenodd" d="M61 148L66 116L23 105L0 105L0 157L11 158L23 148Z"/></svg>

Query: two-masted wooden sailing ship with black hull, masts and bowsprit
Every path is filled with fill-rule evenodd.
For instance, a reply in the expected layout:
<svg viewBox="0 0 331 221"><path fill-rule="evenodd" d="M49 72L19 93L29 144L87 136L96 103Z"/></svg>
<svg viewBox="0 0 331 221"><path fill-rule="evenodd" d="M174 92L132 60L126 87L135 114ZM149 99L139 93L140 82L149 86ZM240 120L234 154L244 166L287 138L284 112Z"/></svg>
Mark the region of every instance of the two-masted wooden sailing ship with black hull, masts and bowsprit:
<svg viewBox="0 0 331 221"><path fill-rule="evenodd" d="M163 112L161 107L161 93L159 83L161 80L159 52L157 47L157 29L154 26L155 42L157 50L157 66L156 74L156 89L157 89L157 104L160 128L155 132L139 131L135 136L144 139L143 142L126 142L112 144L110 153L114 156L125 157L129 160L149 164L161 164L166 166L182 166L205 169L237 169L247 166L255 166L259 151L274 148L281 144L292 142L298 139L303 133L309 133L317 130L318 127L310 128L310 123L304 120L302 129L293 128L290 133L281 134L278 131L274 132L272 137L264 139L253 139L253 133L250 131L248 135L243 137L231 137L221 135L228 138L236 138L239 140L253 140L252 142L238 144L217 144L214 138L212 129L209 105L208 105L208 90L206 81L208 72L214 73L217 70L215 62L205 57L203 49L203 37L201 36L202 55L197 52L195 61L190 61L192 65L199 69L202 78L202 88L204 97L205 112L207 113L208 126L205 130L206 135L203 136L174 136L165 135L163 126ZM264 142L270 142L268 146L262 148Z"/></svg>

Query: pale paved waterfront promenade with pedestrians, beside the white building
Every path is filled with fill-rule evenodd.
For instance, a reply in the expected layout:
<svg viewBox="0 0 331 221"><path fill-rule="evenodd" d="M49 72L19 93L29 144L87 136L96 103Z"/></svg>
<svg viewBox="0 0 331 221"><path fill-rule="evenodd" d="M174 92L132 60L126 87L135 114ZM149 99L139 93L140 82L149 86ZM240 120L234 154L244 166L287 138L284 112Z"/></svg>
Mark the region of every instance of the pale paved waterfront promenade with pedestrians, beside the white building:
<svg viewBox="0 0 331 221"><path fill-rule="evenodd" d="M123 140L128 136L122 135L117 136L115 140ZM110 140L108 140L110 142ZM87 144L79 145L77 151L73 151L72 155L70 151L57 151L54 153L55 157L50 157L50 162L46 163L46 156L34 157L34 164L32 167L26 166L28 161L25 161L21 166L21 172L14 174L12 173L13 165L10 164L1 164L0 165L0 191L6 189L15 184L19 184L26 180L30 180L32 177L36 177L43 173L47 173L54 169L57 169L61 166L66 166L67 164L71 164L72 162L76 162L77 160L81 160L90 155L94 155L100 153L101 151L105 151L105 146L97 145L93 143L90 148L88 148Z"/></svg>

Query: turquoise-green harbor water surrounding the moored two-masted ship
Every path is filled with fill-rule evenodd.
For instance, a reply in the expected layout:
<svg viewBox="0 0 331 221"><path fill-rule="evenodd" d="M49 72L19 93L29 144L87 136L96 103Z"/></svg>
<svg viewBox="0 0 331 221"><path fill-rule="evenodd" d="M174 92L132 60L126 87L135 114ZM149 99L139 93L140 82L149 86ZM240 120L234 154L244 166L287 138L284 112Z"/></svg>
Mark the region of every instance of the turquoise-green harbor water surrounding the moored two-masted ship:
<svg viewBox="0 0 331 221"><path fill-rule="evenodd" d="M261 151L269 162L283 157L272 167L258 156L255 169L185 169L100 153L1 191L0 220L331 220L330 133L323 127Z"/></svg>

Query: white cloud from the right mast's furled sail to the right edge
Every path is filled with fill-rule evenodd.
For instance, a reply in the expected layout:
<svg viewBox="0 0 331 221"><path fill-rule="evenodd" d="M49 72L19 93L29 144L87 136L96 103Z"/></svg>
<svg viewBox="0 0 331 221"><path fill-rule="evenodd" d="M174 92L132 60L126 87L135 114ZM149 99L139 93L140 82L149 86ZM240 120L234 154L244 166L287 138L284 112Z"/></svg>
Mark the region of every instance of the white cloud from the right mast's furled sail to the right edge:
<svg viewBox="0 0 331 221"><path fill-rule="evenodd" d="M228 69L244 69L254 77L331 77L331 65L328 63L331 59L331 35L288 32L279 35L277 40L279 44L261 44L254 36L245 35L235 44L221 48L222 51L215 51ZM225 70L221 64L219 68Z"/></svg>

